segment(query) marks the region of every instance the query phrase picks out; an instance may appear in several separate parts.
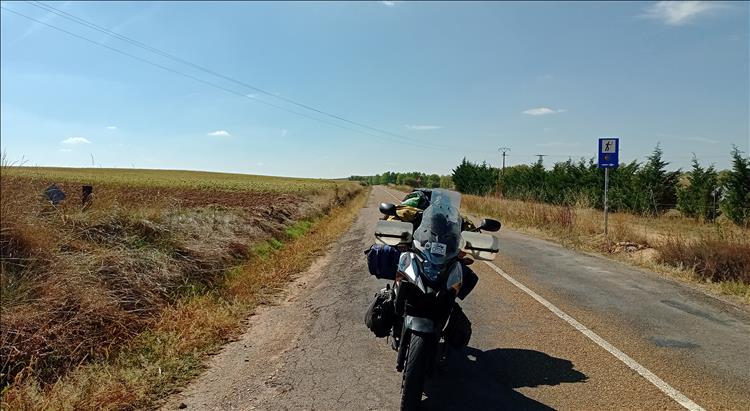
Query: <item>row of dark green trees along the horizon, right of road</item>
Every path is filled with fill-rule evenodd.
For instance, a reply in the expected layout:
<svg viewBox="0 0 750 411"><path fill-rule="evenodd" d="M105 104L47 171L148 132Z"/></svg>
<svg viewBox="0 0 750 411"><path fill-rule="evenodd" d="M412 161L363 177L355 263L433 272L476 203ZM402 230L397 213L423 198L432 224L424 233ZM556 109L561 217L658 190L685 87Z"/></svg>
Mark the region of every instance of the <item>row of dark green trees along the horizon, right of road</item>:
<svg viewBox="0 0 750 411"><path fill-rule="evenodd" d="M725 215L735 224L750 224L750 157L734 147L732 168L718 171L693 157L691 168L670 171L663 151L656 146L646 161L620 164L609 173L609 207L644 215L677 209L688 217L707 221ZM455 188L466 194L496 194L504 198L549 204L603 207L604 172L593 158L555 163L542 161L506 167L505 170L466 158L450 176L419 172L376 176L352 176L367 184L399 184L411 187Z"/></svg>

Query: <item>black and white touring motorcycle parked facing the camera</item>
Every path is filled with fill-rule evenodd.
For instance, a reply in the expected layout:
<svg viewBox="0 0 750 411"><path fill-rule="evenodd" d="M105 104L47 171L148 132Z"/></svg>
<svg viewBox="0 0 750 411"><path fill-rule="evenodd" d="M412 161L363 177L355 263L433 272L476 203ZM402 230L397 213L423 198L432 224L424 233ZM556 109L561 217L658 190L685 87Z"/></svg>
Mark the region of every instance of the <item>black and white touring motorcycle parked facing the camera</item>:
<svg viewBox="0 0 750 411"><path fill-rule="evenodd" d="M419 408L425 380L445 360L447 347L468 344L471 323L456 299L466 298L478 281L468 265L498 252L497 238L481 230L497 231L500 222L484 219L474 227L459 214L460 202L455 191L432 190L416 228L388 218L396 216L393 204L379 208L386 219L378 221L376 240L399 253L393 287L381 290L386 297L376 301L392 304L387 309L403 410Z"/></svg>

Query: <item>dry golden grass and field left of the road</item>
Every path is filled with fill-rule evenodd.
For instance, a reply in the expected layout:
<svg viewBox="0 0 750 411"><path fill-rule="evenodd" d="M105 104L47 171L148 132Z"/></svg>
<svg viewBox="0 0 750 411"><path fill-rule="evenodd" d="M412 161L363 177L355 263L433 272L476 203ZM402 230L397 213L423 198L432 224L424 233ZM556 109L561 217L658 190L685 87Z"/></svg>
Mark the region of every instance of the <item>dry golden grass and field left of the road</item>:
<svg viewBox="0 0 750 411"><path fill-rule="evenodd" d="M359 191L328 182L317 191L209 188L196 199L195 187L123 186L105 175L94 206L82 211L70 200L40 201L48 181L7 170L0 179L3 409L128 408L164 394L194 375L201 356L273 291L238 288L261 274L230 270L230 282L227 271L262 260L252 250L271 238L303 241L311 226L295 220L339 212ZM285 278L272 278L273 287Z"/></svg>

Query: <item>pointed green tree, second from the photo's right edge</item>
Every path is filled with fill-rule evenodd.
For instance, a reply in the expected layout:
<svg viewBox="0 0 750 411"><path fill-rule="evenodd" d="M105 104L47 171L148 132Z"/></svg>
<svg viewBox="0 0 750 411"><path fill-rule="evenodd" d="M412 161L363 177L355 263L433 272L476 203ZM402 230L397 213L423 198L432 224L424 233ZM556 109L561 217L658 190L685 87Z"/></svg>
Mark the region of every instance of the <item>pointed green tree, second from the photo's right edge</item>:
<svg viewBox="0 0 750 411"><path fill-rule="evenodd" d="M693 156L693 168L686 175L685 185L677 189L677 209L688 217L713 220L717 214L717 174L713 166L701 167Z"/></svg>

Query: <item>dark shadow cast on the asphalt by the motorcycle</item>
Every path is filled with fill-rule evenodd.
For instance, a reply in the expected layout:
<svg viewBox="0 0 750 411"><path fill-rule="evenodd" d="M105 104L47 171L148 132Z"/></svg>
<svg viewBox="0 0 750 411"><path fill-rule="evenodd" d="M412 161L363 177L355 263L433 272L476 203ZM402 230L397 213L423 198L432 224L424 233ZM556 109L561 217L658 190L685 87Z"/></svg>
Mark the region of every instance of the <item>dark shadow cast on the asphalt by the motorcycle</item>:
<svg viewBox="0 0 750 411"><path fill-rule="evenodd" d="M584 382L566 359L517 348L452 351L443 370L425 384L422 409L551 410L515 388Z"/></svg>

